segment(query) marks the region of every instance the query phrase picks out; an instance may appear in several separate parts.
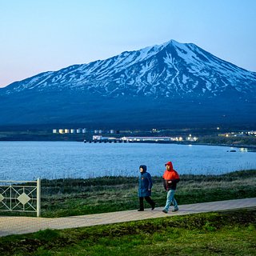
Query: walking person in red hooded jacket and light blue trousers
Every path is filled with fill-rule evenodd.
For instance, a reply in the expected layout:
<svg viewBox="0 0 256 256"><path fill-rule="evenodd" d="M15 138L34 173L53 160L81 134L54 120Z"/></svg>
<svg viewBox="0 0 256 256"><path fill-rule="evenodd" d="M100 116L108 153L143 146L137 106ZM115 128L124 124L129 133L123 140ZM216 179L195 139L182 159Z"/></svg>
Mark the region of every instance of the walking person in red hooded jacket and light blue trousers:
<svg viewBox="0 0 256 256"><path fill-rule="evenodd" d="M162 212L167 214L171 203L174 205L174 210L172 211L178 210L178 203L174 198L174 194L176 192L177 183L179 182L180 179L179 179L178 172L174 170L172 162L166 163L166 170L162 175L162 178L163 178L163 186L165 187L165 190L167 192L166 206L162 210Z"/></svg>

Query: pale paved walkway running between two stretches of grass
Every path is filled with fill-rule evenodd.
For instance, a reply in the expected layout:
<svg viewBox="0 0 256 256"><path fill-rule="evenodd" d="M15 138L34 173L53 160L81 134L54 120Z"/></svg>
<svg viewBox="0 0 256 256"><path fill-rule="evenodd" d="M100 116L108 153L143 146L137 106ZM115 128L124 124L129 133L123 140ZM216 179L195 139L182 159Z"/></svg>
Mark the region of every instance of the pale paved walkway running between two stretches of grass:
<svg viewBox="0 0 256 256"><path fill-rule="evenodd" d="M256 198L236 199L219 202L204 202L181 205L177 212L164 214L162 207L154 210L146 209L118 211L106 214L90 214L65 218L33 218L0 216L0 236L9 234L27 234L46 229L67 229L82 226L104 225L118 222L138 221L147 218L161 218L174 215L206 213L211 211L235 210L256 207Z"/></svg>

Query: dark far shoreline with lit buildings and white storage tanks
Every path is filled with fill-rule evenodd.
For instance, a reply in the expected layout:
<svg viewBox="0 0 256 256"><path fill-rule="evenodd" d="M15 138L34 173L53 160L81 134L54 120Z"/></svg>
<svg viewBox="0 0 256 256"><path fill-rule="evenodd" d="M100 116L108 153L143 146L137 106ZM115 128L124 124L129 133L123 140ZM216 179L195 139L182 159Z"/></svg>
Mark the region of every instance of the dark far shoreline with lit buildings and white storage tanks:
<svg viewBox="0 0 256 256"><path fill-rule="evenodd" d="M66 126L66 127L65 127ZM70 141L95 143L178 143L256 148L255 130L238 130L226 127L206 128L149 128L95 129L67 126L12 126L0 127L0 141Z"/></svg>

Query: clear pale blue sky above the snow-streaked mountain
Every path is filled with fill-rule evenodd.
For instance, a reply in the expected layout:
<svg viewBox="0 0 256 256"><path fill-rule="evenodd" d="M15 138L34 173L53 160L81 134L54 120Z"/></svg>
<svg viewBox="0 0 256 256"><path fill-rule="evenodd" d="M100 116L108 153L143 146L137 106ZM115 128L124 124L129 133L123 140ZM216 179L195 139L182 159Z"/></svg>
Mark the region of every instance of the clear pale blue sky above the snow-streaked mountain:
<svg viewBox="0 0 256 256"><path fill-rule="evenodd" d="M170 39L256 72L256 1L0 0L0 87Z"/></svg>

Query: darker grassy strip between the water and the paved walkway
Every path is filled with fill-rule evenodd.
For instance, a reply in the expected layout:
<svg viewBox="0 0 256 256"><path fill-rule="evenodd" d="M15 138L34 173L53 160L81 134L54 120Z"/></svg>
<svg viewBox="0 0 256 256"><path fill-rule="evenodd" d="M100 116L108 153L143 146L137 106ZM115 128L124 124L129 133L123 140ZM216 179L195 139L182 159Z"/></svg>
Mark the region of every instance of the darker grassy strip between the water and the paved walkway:
<svg viewBox="0 0 256 256"><path fill-rule="evenodd" d="M162 178L153 177L153 180L152 198L156 206L164 206L166 191ZM176 198L180 205L253 198L256 197L255 188L256 170L222 175L181 175ZM42 217L134 210L138 208L137 190L138 178L129 177L42 180ZM145 206L150 207L146 203Z"/></svg>

